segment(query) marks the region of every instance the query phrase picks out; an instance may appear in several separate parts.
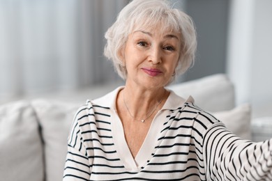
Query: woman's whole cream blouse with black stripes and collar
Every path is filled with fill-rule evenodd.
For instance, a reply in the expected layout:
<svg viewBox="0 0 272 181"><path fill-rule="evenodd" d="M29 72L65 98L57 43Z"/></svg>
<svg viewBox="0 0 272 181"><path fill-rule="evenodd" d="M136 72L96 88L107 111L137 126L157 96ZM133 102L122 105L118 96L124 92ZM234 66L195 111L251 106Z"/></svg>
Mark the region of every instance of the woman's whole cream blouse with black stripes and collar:
<svg viewBox="0 0 272 181"><path fill-rule="evenodd" d="M172 91L133 158L116 113L121 88L77 111L63 180L272 180L272 139L240 139Z"/></svg>

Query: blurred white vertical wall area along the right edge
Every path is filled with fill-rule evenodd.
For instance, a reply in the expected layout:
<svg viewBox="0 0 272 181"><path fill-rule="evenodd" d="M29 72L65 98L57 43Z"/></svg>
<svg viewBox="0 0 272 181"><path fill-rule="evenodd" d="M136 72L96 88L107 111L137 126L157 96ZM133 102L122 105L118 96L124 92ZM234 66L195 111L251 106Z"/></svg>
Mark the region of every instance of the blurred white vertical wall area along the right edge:
<svg viewBox="0 0 272 181"><path fill-rule="evenodd" d="M229 13L227 73L253 116L272 115L271 8L271 0L233 0Z"/></svg>

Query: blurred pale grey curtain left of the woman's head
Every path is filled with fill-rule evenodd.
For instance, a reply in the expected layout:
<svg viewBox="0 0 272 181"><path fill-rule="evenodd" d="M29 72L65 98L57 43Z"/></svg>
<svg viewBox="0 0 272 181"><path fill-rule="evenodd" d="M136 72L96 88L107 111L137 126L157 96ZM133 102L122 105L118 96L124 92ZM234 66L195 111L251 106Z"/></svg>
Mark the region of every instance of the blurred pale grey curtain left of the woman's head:
<svg viewBox="0 0 272 181"><path fill-rule="evenodd" d="M0 0L0 102L119 81L104 34L127 0Z"/></svg>

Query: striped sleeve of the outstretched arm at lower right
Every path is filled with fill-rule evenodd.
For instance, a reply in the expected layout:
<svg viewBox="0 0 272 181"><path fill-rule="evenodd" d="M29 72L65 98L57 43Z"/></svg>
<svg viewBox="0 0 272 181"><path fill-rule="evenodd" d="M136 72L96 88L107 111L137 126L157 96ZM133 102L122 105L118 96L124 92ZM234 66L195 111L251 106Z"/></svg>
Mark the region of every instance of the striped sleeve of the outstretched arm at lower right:
<svg viewBox="0 0 272 181"><path fill-rule="evenodd" d="M216 123L204 136L207 180L272 180L272 139L253 143Z"/></svg>

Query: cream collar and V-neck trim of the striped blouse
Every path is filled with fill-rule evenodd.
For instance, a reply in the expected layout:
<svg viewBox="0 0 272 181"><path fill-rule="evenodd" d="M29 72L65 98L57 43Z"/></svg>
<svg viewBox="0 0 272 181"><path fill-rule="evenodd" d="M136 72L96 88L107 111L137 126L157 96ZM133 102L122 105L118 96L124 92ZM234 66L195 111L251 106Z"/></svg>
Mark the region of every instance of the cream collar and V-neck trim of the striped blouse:
<svg viewBox="0 0 272 181"><path fill-rule="evenodd" d="M156 155L156 150L162 141L162 139L159 138L163 138L163 136L165 136L167 133L161 132L163 129L165 129L166 125L164 125L164 123L166 121L167 125L171 124L171 120L168 120L171 110L181 107L184 102L193 102L193 99L192 97L188 97L187 100L184 100L182 97L179 97L174 92L170 91L169 97L167 97L163 108L160 109L160 111L158 111L156 116L153 118L149 131L146 134L146 138L144 139L141 148L134 158L125 138L123 124L121 123L121 119L116 111L116 96L121 89L123 89L123 86L116 88L116 90L112 91L112 93L109 93L108 95L105 95L104 97L93 100L93 102L104 107L109 107L111 110L112 137L114 139L116 153L119 155L119 159L128 171L139 172L148 164L153 155Z"/></svg>

